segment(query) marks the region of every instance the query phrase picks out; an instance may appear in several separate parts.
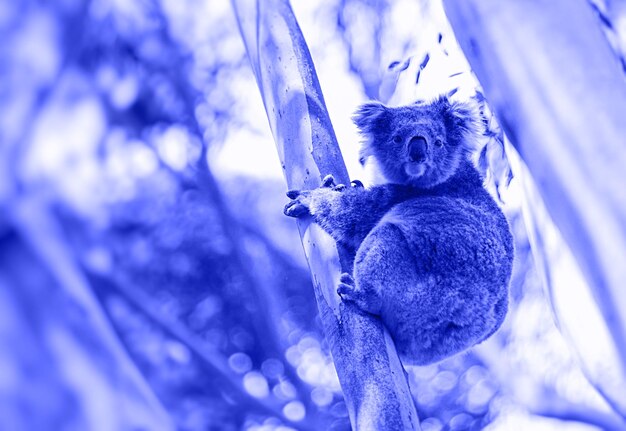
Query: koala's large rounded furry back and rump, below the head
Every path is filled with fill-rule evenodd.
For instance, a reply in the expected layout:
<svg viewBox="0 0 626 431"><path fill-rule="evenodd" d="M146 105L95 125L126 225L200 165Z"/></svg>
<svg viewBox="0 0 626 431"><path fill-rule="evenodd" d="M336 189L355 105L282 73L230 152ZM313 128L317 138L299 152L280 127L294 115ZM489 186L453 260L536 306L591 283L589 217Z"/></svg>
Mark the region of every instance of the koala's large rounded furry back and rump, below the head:
<svg viewBox="0 0 626 431"><path fill-rule="evenodd" d="M482 186L419 196L394 206L370 232L356 260L370 274L357 277L376 280L378 273L381 317L400 355L427 364L500 326L512 247L506 219Z"/></svg>

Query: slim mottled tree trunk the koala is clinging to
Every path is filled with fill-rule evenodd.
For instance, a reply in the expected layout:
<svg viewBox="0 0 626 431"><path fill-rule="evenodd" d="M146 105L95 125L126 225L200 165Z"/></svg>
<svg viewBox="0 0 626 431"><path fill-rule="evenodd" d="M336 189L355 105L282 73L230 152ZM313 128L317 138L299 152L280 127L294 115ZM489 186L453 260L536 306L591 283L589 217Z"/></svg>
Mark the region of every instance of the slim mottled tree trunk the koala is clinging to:
<svg viewBox="0 0 626 431"><path fill-rule="evenodd" d="M286 0L233 0L289 189L327 174L349 183L304 37ZM285 200L286 203L287 200ZM355 430L415 430L406 374L379 319L341 303L350 257L316 224L299 220L320 317ZM339 254L342 258L339 258Z"/></svg>

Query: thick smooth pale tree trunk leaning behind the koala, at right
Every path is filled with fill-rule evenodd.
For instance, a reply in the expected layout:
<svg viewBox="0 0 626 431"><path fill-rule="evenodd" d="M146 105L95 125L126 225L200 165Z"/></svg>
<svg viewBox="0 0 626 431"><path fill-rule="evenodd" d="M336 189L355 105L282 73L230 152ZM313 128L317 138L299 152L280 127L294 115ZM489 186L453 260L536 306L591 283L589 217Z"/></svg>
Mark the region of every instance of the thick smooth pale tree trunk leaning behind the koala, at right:
<svg viewBox="0 0 626 431"><path fill-rule="evenodd" d="M568 277L544 272L559 323L590 379L626 416L626 85L618 59L585 0L444 0L444 7L545 203L549 218L535 223L554 222L593 298L590 313L597 307L606 322L617 358L610 377L606 366L593 369L595 345L560 311L565 298L555 289L566 289ZM534 230L538 259L549 257L549 232ZM554 269L546 263L545 271Z"/></svg>

